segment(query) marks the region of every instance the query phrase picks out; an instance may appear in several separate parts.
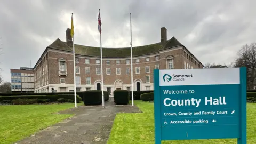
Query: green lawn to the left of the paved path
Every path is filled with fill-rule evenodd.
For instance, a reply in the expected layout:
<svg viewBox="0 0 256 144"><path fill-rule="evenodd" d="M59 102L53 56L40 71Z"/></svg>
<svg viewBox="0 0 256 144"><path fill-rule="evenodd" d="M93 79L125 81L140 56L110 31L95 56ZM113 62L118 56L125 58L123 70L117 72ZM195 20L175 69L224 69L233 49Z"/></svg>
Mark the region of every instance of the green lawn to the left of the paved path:
<svg viewBox="0 0 256 144"><path fill-rule="evenodd" d="M0 143L13 143L61 122L73 115L52 113L73 107L74 103L0 106Z"/></svg>

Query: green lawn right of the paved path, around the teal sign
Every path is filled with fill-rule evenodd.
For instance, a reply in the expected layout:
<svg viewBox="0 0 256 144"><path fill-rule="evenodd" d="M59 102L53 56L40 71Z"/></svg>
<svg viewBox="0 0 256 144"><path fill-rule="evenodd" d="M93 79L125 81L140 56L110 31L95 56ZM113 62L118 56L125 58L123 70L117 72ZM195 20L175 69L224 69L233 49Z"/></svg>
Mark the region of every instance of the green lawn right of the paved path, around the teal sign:
<svg viewBox="0 0 256 144"><path fill-rule="evenodd" d="M143 113L117 114L110 133L110 143L155 143L154 104L134 101ZM247 143L256 143L256 103L247 103ZM237 143L236 139L175 140L162 143Z"/></svg>

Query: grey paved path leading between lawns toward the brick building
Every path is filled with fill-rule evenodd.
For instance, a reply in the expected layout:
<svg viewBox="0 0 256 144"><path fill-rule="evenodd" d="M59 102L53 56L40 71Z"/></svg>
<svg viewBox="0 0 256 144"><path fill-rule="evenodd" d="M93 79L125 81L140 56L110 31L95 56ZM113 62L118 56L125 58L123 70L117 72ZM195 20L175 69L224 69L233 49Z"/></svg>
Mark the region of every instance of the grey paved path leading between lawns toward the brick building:
<svg viewBox="0 0 256 144"><path fill-rule="evenodd" d="M117 106L113 98L105 102L105 108L102 108L102 105L79 106L60 112L60 114L75 114L74 117L16 143L107 143L117 113L141 113L141 111L136 106Z"/></svg>

